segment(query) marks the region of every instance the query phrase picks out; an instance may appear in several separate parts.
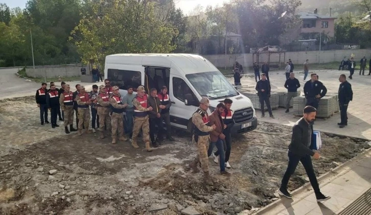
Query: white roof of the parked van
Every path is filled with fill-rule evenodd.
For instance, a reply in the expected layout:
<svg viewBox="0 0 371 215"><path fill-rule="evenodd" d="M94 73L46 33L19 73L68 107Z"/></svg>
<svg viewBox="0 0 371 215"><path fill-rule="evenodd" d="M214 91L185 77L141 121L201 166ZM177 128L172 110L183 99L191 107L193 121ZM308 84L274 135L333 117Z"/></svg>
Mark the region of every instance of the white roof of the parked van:
<svg viewBox="0 0 371 215"><path fill-rule="evenodd" d="M193 54L115 54L106 56L105 63L174 67L184 75L218 70L204 57Z"/></svg>

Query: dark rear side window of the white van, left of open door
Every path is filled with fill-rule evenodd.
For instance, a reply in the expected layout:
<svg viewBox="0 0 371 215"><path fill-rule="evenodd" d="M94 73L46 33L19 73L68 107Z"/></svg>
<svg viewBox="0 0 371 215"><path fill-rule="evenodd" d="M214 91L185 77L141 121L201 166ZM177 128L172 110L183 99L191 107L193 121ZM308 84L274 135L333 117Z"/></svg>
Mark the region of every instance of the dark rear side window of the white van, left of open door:
<svg viewBox="0 0 371 215"><path fill-rule="evenodd" d="M136 91L136 88L142 85L140 71L108 69L107 78L111 81L111 86L118 86L124 90L127 90L128 86L132 86Z"/></svg>

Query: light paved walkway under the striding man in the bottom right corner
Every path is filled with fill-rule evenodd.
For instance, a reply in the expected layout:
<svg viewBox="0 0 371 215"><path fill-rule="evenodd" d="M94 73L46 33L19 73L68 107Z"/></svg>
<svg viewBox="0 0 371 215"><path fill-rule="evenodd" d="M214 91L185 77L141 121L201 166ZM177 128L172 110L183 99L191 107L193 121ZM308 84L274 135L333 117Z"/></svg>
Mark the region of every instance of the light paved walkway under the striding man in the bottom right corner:
<svg viewBox="0 0 371 215"><path fill-rule="evenodd" d="M337 174L333 176L333 174ZM345 207L371 188L371 150L339 166L338 169L318 179L321 192L331 199L317 203L312 186L293 192L293 198L282 197L254 214L264 215L332 215ZM246 212L240 215L248 214ZM367 214L359 214L367 215Z"/></svg>

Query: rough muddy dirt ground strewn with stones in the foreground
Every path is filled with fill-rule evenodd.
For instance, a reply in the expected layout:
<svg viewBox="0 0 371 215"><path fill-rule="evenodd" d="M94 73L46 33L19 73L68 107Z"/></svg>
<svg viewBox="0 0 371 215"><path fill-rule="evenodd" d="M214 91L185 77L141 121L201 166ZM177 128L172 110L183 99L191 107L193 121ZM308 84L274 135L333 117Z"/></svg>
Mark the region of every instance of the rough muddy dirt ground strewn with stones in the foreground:
<svg viewBox="0 0 371 215"><path fill-rule="evenodd" d="M97 133L78 137L41 126L34 98L0 101L0 118L0 214L180 214L189 206L201 214L236 214L259 208L277 199L291 138L290 127L261 122L234 136L233 175L220 176L210 159L214 186L206 186L188 167L196 151L183 131L148 153L129 142L111 145ZM364 140L323 133L322 141L322 158L313 162L317 176L369 148ZM289 190L307 181L299 165Z"/></svg>

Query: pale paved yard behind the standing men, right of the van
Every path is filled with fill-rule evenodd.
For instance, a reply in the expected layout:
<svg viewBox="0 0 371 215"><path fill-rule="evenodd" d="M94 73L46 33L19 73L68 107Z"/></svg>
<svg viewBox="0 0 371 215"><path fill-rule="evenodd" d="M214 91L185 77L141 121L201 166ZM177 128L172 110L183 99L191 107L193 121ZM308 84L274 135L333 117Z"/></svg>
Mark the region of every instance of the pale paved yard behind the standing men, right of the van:
<svg viewBox="0 0 371 215"><path fill-rule="evenodd" d="M311 72L311 71L310 71ZM349 71L338 71L338 70L314 70L317 73L319 80L327 87L328 94L337 94L339 89L339 75L345 74ZM302 85L300 90L303 94L303 87L305 81L303 81L304 74L295 71L295 77L300 81ZM309 74L310 77L310 74ZM309 80L310 78L307 78ZM272 91L275 92L286 92L284 88L285 74L284 71L271 71L269 73ZM229 79L233 82L233 78ZM363 139L371 139L371 76L359 76L355 73L353 80L348 80L352 84L353 88L353 101L349 104L348 108L348 126L340 129L337 123L340 122L340 113L334 114L326 121L317 120L314 125L314 129L329 132L339 135L352 136ZM244 90L248 89L255 92L256 82L253 78L253 74L248 74L246 77L241 79L241 83ZM292 110L292 108L290 109ZM274 119L269 117L260 117L260 110L257 110L257 117L259 121L277 123L282 125L293 126L294 123L299 120L299 117L293 116L292 113L285 113L285 108L279 108L273 110Z"/></svg>

